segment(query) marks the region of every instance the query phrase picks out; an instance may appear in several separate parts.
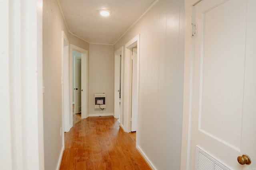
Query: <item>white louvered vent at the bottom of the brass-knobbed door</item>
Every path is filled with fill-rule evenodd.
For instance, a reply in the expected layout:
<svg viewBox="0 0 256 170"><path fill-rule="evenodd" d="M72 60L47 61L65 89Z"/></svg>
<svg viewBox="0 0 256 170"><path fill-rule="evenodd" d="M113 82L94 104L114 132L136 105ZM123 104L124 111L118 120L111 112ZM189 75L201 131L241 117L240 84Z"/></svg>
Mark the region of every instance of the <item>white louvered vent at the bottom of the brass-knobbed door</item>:
<svg viewBox="0 0 256 170"><path fill-rule="evenodd" d="M218 160L196 147L196 170L230 170Z"/></svg>

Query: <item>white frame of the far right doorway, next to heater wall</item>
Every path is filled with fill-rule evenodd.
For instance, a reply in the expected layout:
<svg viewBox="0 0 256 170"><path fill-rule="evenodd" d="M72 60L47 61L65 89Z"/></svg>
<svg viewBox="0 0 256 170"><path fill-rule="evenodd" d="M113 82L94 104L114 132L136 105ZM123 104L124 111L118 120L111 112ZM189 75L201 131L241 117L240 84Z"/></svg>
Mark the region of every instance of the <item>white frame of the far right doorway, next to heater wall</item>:
<svg viewBox="0 0 256 170"><path fill-rule="evenodd" d="M118 50L115 51L115 84L114 84L114 117L115 118L120 118L120 123L122 122L122 97L121 97L121 105L119 106L119 94L116 92L117 89L120 87L120 94L122 96L122 72L123 72L123 67L120 67L120 60L122 61L124 53L124 47L120 47ZM121 63L122 65L122 63ZM120 75L121 74L121 75ZM120 80L121 78L121 80ZM121 83L121 84L120 84ZM119 109L121 107L121 116L119 117Z"/></svg>

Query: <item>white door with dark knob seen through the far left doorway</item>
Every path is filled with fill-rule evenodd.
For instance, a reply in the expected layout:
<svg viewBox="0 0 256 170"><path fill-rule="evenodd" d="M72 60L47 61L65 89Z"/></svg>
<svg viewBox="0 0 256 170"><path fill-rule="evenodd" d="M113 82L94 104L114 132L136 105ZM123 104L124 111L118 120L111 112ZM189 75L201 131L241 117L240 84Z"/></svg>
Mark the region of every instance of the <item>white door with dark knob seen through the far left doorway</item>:
<svg viewBox="0 0 256 170"><path fill-rule="evenodd" d="M81 58L75 57L75 108L74 113L81 111Z"/></svg>

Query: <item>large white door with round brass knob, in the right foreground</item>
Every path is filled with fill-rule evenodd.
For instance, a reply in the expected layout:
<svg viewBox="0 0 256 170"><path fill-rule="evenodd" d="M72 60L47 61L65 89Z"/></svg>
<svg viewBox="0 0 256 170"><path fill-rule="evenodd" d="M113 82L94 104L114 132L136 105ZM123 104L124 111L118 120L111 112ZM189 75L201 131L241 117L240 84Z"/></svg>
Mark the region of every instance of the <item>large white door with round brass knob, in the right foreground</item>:
<svg viewBox="0 0 256 170"><path fill-rule="evenodd" d="M191 170L196 145L231 170L256 169L255 18L256 0L202 0L194 6ZM242 154L250 156L250 165L238 163Z"/></svg>

